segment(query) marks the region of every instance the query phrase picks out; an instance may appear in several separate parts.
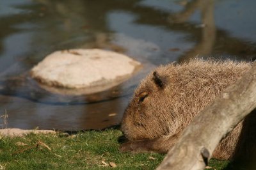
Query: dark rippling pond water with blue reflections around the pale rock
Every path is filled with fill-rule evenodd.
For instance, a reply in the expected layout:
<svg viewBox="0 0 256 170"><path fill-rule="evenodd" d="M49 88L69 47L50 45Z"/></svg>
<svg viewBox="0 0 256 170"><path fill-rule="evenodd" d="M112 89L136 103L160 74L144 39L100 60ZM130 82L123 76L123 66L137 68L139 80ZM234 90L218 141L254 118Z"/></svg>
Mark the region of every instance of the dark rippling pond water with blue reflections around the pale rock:
<svg viewBox="0 0 256 170"><path fill-rule="evenodd" d="M117 125L132 91L157 65L196 57L256 58L256 1L0 1L0 115L9 128L101 129ZM143 63L102 93L49 93L29 70L55 50L114 50ZM0 120L3 125L3 118Z"/></svg>

